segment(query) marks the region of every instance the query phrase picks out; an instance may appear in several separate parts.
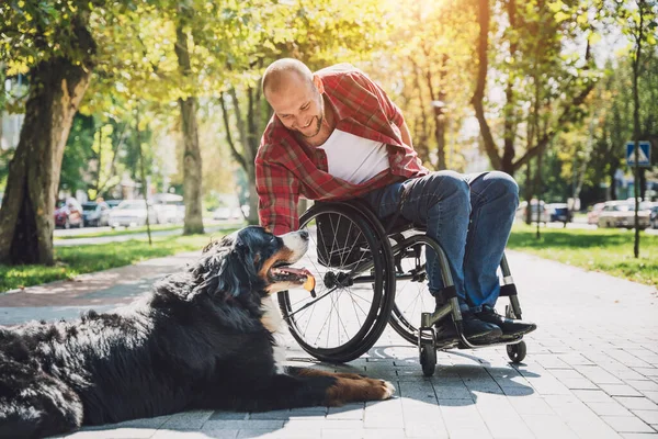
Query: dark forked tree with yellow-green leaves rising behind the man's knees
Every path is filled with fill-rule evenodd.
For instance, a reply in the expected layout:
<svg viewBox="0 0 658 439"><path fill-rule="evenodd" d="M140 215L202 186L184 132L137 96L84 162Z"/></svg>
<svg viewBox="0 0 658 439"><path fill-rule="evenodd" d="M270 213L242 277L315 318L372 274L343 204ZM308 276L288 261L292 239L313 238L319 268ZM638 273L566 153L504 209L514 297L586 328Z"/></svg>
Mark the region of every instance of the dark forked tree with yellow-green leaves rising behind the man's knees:
<svg viewBox="0 0 658 439"><path fill-rule="evenodd" d="M595 85L594 77L590 74L592 57L589 40L581 57L565 54L561 43L565 37L575 38L587 33L590 33L591 36L592 30L589 25L586 7L580 3L567 4L563 1L535 0L519 8L514 1L507 0L507 3L503 3L502 9L507 11L510 25L504 32L504 42L497 42L497 46L503 45L510 48L510 53L506 55L507 61L503 59L500 65L504 68L502 74L508 78L506 86L508 102L506 102L507 108L503 111L506 123L503 125L502 155L485 109L487 78L490 74L491 8L489 0L478 1L478 71L472 99L491 166L510 175L540 155L559 131L581 119L580 106ZM527 78L534 78L535 81L541 82L534 83L527 81ZM525 112L523 116L522 109L532 102L537 86L541 97L537 102L542 105L538 109L540 117L547 122L547 128L542 135L535 136L535 142L520 158L517 158L514 139L520 136L517 130L521 123L519 117L525 119L523 125L526 138L531 137L527 133L532 127L532 115ZM526 90L525 98L521 98L514 92L521 88Z"/></svg>

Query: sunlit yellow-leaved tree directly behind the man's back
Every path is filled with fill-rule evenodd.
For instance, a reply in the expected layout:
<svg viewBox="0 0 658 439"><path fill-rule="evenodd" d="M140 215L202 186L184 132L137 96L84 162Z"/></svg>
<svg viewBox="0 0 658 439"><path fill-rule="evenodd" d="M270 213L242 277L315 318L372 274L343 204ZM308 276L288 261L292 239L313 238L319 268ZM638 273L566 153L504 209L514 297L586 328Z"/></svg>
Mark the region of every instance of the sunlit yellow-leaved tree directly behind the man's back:
<svg viewBox="0 0 658 439"><path fill-rule="evenodd" d="M413 148L433 169L466 164L460 128L473 93L473 56L477 30L473 2L419 0L389 14L389 43L366 63L402 110ZM404 41L405 44L390 42Z"/></svg>

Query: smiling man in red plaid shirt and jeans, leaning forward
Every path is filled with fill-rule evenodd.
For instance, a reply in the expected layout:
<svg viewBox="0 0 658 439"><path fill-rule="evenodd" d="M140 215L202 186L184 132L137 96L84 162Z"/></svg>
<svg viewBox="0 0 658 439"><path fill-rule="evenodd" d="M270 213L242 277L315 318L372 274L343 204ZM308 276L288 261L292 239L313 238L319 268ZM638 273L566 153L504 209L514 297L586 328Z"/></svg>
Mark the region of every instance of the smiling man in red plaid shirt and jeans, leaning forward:
<svg viewBox="0 0 658 439"><path fill-rule="evenodd" d="M299 195L363 198L384 218L396 213L405 193L400 214L427 226L450 261L466 337L483 344L535 329L494 309L500 292L496 269L519 204L511 177L428 171L400 110L350 65L313 74L298 60L280 59L265 70L262 88L274 115L256 157L261 225L277 235L297 229ZM428 278L441 305L441 273L431 251ZM450 319L436 333L441 339L456 335Z"/></svg>

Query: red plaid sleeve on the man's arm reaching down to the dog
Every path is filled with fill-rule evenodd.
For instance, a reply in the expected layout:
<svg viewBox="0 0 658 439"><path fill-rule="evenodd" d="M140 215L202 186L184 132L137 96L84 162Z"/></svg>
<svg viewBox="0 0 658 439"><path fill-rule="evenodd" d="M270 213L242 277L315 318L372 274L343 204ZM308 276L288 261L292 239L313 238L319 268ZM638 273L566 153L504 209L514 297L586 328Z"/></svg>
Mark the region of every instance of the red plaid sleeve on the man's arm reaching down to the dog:
<svg viewBox="0 0 658 439"><path fill-rule="evenodd" d="M274 235L299 228L299 183L286 168L257 158L256 191L261 226L269 227Z"/></svg>

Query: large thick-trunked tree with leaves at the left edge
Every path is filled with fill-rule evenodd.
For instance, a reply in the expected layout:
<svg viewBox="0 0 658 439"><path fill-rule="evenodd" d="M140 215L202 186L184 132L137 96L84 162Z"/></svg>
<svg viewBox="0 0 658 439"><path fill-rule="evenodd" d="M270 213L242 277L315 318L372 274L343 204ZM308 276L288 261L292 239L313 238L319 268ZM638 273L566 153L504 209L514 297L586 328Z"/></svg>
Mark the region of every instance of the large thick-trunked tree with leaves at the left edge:
<svg viewBox="0 0 658 439"><path fill-rule="evenodd" d="M0 5L0 61L27 72L30 95L0 209L0 263L54 262L55 196L64 146L94 68L89 1ZM38 130L36 130L38 127Z"/></svg>

